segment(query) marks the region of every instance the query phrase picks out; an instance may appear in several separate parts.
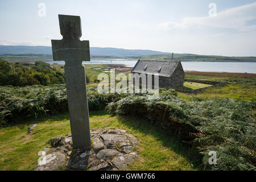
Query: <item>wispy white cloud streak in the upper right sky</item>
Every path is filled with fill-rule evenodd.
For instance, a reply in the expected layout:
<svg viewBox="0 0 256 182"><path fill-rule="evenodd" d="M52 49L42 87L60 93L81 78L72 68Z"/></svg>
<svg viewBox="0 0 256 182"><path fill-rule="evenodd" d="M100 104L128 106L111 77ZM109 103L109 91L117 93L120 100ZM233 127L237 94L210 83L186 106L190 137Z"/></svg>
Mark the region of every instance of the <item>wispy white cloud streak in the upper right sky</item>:
<svg viewBox="0 0 256 182"><path fill-rule="evenodd" d="M189 28L192 26L211 26L217 28L233 28L245 32L256 30L256 25L247 26L249 20L256 18L256 2L243 6L217 12L217 16L186 17L181 23L165 22L159 25L163 30L174 30L176 28Z"/></svg>

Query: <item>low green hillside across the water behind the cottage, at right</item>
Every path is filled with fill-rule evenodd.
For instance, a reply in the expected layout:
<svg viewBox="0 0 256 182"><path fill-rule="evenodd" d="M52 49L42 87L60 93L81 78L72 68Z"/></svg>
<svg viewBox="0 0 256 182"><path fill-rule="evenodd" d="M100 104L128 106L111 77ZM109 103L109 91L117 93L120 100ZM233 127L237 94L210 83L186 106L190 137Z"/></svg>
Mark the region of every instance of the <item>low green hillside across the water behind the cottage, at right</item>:
<svg viewBox="0 0 256 182"><path fill-rule="evenodd" d="M131 59L171 60L170 54L131 56ZM174 54L174 60L215 61L215 62L256 62L256 57L205 56L193 54Z"/></svg>

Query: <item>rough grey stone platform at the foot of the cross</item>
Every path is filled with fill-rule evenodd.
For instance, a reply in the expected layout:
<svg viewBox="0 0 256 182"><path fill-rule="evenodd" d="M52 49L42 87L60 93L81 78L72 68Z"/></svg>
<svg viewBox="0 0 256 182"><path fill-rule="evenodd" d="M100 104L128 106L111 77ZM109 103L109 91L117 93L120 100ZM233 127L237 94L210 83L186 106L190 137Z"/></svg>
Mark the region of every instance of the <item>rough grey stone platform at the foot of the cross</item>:
<svg viewBox="0 0 256 182"><path fill-rule="evenodd" d="M71 134L49 140L51 147L41 152L34 170L119 170L138 158L134 150L139 142L126 130L100 127L90 132L92 147L88 150L73 148Z"/></svg>

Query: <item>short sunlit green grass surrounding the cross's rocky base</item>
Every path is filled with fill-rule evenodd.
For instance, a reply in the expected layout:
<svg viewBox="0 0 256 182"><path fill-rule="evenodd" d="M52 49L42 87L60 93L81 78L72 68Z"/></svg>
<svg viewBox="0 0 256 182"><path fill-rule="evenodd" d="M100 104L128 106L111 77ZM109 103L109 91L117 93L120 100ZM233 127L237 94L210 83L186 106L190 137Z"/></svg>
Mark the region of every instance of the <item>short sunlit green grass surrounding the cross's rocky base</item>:
<svg viewBox="0 0 256 182"><path fill-rule="evenodd" d="M27 127L37 123L35 133L27 135ZM139 159L130 170L195 170L193 150L184 147L176 137L163 133L147 121L115 116L104 111L90 111L90 127L117 127L134 134L140 142ZM68 114L35 119L24 124L0 129L0 170L32 170L38 152L47 147L47 140L71 133Z"/></svg>

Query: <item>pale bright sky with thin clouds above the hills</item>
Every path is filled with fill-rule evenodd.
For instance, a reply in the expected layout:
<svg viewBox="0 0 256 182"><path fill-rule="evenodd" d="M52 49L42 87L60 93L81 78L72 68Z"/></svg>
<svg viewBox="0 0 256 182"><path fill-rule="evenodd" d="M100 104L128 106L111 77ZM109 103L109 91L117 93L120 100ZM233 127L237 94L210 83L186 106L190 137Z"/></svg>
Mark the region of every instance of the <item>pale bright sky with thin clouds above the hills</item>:
<svg viewBox="0 0 256 182"><path fill-rule="evenodd" d="M256 56L256 0L1 0L0 45L51 46L58 14L81 17L90 47Z"/></svg>

